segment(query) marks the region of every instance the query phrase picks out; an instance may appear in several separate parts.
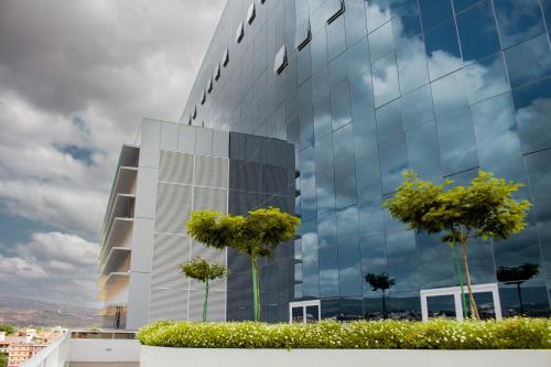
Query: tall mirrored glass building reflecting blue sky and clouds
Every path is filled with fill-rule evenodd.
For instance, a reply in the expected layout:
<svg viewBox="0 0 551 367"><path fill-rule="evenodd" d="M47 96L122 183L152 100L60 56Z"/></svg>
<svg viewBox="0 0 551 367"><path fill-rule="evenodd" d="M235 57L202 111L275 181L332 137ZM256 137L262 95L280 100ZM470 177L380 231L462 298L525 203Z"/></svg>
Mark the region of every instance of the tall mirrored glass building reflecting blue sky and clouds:
<svg viewBox="0 0 551 367"><path fill-rule="evenodd" d="M291 302L341 320L456 314L454 251L381 202L406 169L458 184L485 170L533 205L520 235L471 242L483 314L549 315L549 22L550 0L228 0L181 122L294 144ZM228 319L249 317L230 302Z"/></svg>

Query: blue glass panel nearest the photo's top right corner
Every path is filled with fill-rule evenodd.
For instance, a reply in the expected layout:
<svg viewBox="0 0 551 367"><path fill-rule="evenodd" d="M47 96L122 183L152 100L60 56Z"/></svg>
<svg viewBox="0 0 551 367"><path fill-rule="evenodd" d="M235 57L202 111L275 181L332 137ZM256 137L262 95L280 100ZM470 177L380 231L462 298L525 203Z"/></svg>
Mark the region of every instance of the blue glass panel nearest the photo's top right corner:
<svg viewBox="0 0 551 367"><path fill-rule="evenodd" d="M544 32L539 1L500 0L494 8L504 48Z"/></svg>

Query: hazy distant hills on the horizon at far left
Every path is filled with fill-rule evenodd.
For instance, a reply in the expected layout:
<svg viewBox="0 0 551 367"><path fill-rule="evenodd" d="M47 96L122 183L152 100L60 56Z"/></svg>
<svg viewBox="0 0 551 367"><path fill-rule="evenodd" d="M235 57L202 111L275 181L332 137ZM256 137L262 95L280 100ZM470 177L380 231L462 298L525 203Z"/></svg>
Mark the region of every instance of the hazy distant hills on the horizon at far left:
<svg viewBox="0 0 551 367"><path fill-rule="evenodd" d="M96 313L91 309L0 295L0 323L18 326L97 326Z"/></svg>

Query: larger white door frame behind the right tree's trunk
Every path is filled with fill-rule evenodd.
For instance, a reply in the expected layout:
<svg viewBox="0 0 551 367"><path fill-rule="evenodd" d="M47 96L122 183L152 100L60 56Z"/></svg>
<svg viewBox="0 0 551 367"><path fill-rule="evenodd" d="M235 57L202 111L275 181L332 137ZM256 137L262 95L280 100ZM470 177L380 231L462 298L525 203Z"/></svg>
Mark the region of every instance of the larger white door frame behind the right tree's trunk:
<svg viewBox="0 0 551 367"><path fill-rule="evenodd" d="M499 300L499 290L497 288L497 283L486 283L486 284L476 284L471 287L473 289L473 293L491 293L494 298L494 311L496 315L496 320L501 320L501 302ZM467 287L464 285L463 290L465 295L468 296ZM420 291L421 294L421 316L423 321L429 320L429 307L426 303L426 299L430 296L439 296L439 295L453 295L454 304L455 304L455 317L457 321L463 321L463 303L461 300L461 287L446 287L446 288L433 288L433 289L424 289Z"/></svg>

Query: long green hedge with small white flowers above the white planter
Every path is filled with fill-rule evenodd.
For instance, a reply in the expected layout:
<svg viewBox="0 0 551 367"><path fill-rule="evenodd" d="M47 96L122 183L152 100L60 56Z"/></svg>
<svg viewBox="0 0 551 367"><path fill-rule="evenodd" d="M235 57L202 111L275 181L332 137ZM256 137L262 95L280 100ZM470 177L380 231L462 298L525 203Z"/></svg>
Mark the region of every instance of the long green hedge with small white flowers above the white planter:
<svg viewBox="0 0 551 367"><path fill-rule="evenodd" d="M143 326L138 339L144 345L180 348L548 349L551 319L323 321L307 325L161 321Z"/></svg>

